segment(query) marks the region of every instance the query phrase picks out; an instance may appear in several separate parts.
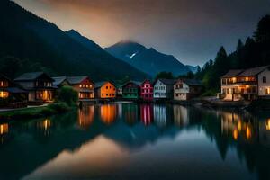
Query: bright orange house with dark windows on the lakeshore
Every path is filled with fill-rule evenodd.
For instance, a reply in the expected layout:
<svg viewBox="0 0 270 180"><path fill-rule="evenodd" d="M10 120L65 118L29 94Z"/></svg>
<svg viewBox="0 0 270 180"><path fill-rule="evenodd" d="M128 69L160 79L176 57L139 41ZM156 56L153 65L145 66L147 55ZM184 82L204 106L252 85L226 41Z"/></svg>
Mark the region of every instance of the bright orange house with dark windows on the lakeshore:
<svg viewBox="0 0 270 180"><path fill-rule="evenodd" d="M99 82L94 85L95 98L113 99L116 97L116 87L110 81Z"/></svg>

